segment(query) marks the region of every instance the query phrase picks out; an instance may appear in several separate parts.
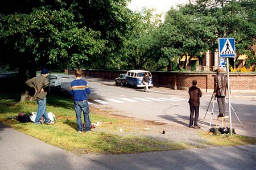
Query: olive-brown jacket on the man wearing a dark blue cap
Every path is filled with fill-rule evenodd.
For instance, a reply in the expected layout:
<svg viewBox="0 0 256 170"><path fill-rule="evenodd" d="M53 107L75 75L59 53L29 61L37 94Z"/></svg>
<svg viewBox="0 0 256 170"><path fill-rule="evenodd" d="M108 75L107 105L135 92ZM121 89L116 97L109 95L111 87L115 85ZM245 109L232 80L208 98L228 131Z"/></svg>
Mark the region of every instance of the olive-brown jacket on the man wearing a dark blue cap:
<svg viewBox="0 0 256 170"><path fill-rule="evenodd" d="M32 79L27 80L27 85L35 88L37 92L35 92L35 95L33 97L34 100L36 99L44 99L44 97L46 97L47 95L47 89L45 89L49 82L48 79L43 76L43 75L39 75L39 76L35 76ZM44 89L44 91L41 91L42 89Z"/></svg>

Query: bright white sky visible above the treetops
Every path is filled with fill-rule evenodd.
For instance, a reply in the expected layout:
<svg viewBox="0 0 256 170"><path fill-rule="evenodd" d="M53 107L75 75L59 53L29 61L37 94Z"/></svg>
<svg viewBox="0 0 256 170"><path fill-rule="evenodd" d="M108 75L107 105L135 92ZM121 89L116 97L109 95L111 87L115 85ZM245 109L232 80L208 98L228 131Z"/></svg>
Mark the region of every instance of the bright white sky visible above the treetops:
<svg viewBox="0 0 256 170"><path fill-rule="evenodd" d="M142 7L156 8L156 12L162 13L168 11L172 6L185 4L188 0L131 0L128 7L135 11L140 11Z"/></svg>

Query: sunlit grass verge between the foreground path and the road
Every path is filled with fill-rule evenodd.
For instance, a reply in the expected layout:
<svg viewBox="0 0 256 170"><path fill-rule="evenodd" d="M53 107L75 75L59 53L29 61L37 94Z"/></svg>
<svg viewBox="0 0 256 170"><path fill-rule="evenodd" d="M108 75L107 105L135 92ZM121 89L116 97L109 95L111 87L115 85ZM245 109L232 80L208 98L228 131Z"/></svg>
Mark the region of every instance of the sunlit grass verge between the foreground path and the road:
<svg viewBox="0 0 256 170"><path fill-rule="evenodd" d="M195 147L256 144L255 138L240 135L222 137L200 133L203 140L200 140L198 145L141 135L144 127L158 125L153 125L151 122L138 124L131 118L114 116L111 112L102 113L93 107L90 107L90 119L92 122L102 121L102 126L93 129L93 133L80 134L76 130L73 101L54 95L47 97L47 111L54 113L57 118L54 125L20 123L16 120L9 120L8 117L17 116L18 113L36 112L37 104L35 101L20 103L19 99L19 94L0 92L0 121L3 124L77 155L88 153L130 154ZM134 127L134 123L136 123L136 127ZM121 127L123 128L122 133L119 131Z"/></svg>

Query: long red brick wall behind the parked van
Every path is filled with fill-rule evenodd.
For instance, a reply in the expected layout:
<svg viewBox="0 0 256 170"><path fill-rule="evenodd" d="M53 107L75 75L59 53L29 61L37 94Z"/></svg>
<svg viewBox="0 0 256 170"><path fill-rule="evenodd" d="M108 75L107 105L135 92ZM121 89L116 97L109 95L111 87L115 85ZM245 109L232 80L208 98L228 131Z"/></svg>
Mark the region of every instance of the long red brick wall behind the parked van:
<svg viewBox="0 0 256 170"><path fill-rule="evenodd" d="M74 74L75 70L68 70ZM83 70L83 75L93 78L114 80L119 74L126 73L126 70ZM175 90L187 90L192 86L192 80L197 80L197 87L202 90L213 90L213 72L166 72L151 71L154 86L168 87ZM229 73L231 90L256 90L256 73Z"/></svg>

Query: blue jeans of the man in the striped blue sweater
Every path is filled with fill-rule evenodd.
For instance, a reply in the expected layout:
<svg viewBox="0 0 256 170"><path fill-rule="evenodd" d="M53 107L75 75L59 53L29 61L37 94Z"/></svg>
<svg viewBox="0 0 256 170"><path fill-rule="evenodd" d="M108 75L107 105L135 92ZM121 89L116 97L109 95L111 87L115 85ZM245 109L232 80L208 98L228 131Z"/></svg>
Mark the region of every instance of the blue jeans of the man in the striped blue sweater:
<svg viewBox="0 0 256 170"><path fill-rule="evenodd" d="M74 108L76 112L77 130L82 131L82 118L81 112L84 113L85 131L90 131L90 117L89 117L89 104L87 100L74 101Z"/></svg>

